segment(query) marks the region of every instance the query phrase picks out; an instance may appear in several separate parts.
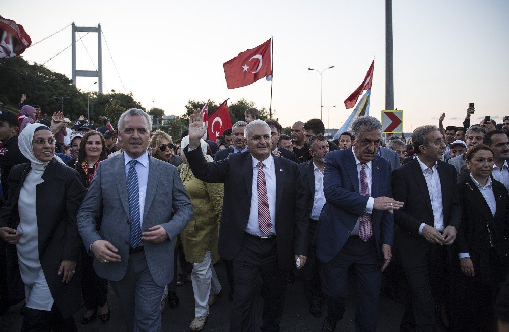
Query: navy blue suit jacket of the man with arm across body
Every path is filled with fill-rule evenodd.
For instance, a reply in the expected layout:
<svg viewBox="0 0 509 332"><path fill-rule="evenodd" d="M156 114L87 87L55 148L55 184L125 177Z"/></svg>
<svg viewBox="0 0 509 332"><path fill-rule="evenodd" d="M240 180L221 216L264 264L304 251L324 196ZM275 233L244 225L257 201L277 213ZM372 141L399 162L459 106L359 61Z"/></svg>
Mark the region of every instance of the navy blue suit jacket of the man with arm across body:
<svg viewBox="0 0 509 332"><path fill-rule="evenodd" d="M352 148L327 153L325 162L323 186L327 202L317 229L317 257L322 262L330 261L340 252L367 205L367 196L360 194ZM375 155L371 197L392 197L391 171L390 163ZM383 262L382 244L392 246L394 241L394 216L388 211L373 209L372 228L378 256Z"/></svg>

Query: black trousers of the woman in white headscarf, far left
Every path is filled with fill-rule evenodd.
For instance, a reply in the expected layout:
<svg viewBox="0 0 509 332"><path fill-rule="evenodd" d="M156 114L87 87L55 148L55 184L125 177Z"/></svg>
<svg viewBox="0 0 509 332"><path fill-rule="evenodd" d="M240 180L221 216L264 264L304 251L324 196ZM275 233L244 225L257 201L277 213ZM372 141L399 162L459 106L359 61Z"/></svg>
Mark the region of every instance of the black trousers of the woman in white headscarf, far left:
<svg viewBox="0 0 509 332"><path fill-rule="evenodd" d="M73 332L77 331L74 318L64 319L62 313L53 304L51 311L38 310L26 307L23 318L22 332Z"/></svg>

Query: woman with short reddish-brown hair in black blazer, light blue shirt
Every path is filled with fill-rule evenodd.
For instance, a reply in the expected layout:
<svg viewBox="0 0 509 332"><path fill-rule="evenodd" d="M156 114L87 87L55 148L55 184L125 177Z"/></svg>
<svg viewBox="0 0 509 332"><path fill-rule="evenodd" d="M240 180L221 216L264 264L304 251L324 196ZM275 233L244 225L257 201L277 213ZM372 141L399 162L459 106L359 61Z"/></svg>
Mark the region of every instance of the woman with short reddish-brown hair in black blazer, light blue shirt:
<svg viewBox="0 0 509 332"><path fill-rule="evenodd" d="M491 178L488 146L471 147L465 160L470 175L458 184L462 221L451 264L449 323L451 330L490 331L496 328L493 307L508 270L495 247L508 244L509 193Z"/></svg>

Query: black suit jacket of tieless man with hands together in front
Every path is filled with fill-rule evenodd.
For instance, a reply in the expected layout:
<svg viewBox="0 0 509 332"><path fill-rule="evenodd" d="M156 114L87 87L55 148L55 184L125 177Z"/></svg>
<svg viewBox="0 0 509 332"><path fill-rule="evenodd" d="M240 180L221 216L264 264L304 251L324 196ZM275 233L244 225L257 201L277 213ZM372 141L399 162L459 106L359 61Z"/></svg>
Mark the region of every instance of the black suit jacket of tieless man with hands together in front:
<svg viewBox="0 0 509 332"><path fill-rule="evenodd" d="M438 161L438 175L442 187L442 206L444 225L458 230L461 221L461 206L456 183L456 169L443 161ZM419 235L421 223L435 225L428 186L419 161L412 161L392 171L392 197L405 205L394 210L397 225L395 246L402 255L402 264L420 264L431 243ZM417 258L417 259L415 259Z"/></svg>

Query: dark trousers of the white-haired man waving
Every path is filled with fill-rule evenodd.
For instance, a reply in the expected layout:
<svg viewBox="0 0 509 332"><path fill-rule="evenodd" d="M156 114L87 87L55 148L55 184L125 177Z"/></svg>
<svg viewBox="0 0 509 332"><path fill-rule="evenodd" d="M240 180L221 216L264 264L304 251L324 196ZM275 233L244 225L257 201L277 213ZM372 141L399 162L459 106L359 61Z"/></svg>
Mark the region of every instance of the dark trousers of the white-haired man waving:
<svg viewBox="0 0 509 332"><path fill-rule="evenodd" d="M285 305L287 271L281 270L277 259L275 237L260 242L244 235L240 252L233 259L235 293L233 296L230 331L254 331L254 296L259 275L264 287L262 331L279 331Z"/></svg>

